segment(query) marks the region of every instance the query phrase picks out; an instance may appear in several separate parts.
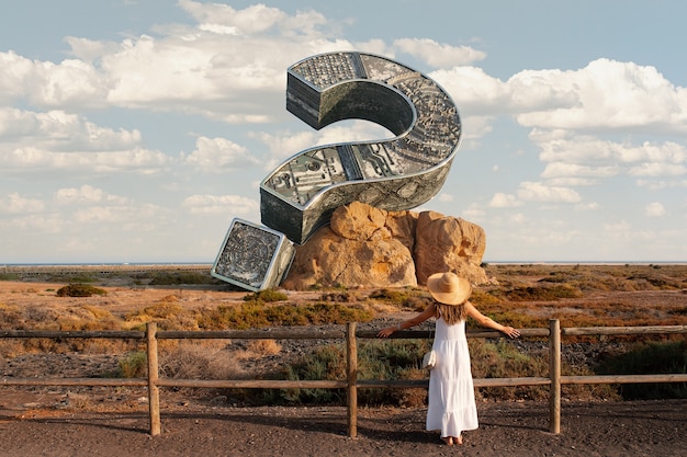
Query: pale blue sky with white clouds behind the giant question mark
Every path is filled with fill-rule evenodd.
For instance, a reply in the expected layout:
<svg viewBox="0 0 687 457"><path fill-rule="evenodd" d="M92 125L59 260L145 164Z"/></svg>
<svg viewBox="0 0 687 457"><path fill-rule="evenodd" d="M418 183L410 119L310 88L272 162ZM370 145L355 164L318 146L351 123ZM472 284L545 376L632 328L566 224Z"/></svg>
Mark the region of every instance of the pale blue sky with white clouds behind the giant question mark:
<svg viewBox="0 0 687 457"><path fill-rule="evenodd" d="M432 209L487 262L687 261L682 1L25 0L0 15L0 264L211 263L319 132L286 68L360 50L439 82L463 142Z"/></svg>

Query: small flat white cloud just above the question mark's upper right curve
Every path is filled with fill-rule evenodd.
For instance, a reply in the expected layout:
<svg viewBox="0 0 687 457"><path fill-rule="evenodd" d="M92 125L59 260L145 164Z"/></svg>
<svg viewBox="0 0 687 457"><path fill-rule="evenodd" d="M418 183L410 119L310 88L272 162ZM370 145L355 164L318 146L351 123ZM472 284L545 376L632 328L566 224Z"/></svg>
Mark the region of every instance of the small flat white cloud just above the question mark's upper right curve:
<svg viewBox="0 0 687 457"><path fill-rule="evenodd" d="M409 54L435 68L469 65L484 60L486 54L469 46L450 46L429 38L401 38L394 41L394 47Z"/></svg>

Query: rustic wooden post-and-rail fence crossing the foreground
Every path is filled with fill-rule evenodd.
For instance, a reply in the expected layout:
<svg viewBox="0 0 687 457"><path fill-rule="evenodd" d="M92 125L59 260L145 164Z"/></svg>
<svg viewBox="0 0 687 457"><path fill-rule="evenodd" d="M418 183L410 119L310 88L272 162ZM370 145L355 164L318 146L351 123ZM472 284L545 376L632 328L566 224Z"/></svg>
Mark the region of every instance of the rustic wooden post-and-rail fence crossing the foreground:
<svg viewBox="0 0 687 457"><path fill-rule="evenodd" d="M4 386L139 386L148 389L150 435L160 434L160 387L200 388L252 388L252 389L346 389L348 435L358 434L358 389L359 388L427 388L428 380L362 380L358 379L358 339L376 339L376 331L358 331L356 323L348 323L346 331L308 330L248 330L248 331L157 331L150 322L145 332L138 331L42 331L0 330L0 338L9 339L125 339L146 340L147 378L12 378L3 377ZM550 431L561 433L561 386L567 384L641 384L641 382L687 382L687 374L662 375L609 375L609 376L561 376L561 339L568 335L638 335L638 334L684 334L687 325L652 327L589 327L561 329L559 320L550 320L548 329L522 329L522 338L549 339L549 377L517 377L474 379L475 387L550 386ZM429 339L433 331L401 331L393 339ZM496 331L469 331L468 338L503 338ZM172 379L160 378L158 369L158 340L344 340L346 343L346 379L339 380L246 380L246 379Z"/></svg>

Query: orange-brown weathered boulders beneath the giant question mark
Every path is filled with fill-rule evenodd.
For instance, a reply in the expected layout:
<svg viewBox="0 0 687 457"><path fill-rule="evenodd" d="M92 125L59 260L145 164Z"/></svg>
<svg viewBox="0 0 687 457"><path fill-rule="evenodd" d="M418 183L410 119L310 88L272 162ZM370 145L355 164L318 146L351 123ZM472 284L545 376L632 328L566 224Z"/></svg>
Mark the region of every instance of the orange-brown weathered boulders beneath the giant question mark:
<svg viewBox="0 0 687 457"><path fill-rule="evenodd" d="M480 266L484 230L435 212L386 212L359 202L334 212L296 254L282 283L312 286L405 287L425 285L436 272L453 271L473 284L487 282Z"/></svg>

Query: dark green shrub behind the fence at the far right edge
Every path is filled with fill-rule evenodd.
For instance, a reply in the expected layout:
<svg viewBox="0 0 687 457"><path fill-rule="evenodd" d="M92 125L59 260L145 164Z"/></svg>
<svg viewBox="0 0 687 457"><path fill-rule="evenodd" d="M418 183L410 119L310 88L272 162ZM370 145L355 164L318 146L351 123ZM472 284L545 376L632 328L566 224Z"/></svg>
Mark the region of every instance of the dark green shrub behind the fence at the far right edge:
<svg viewBox="0 0 687 457"><path fill-rule="evenodd" d="M687 374L687 342L641 342L630 351L602 361L601 375ZM687 398L687 382L623 384L619 392L626 400Z"/></svg>

